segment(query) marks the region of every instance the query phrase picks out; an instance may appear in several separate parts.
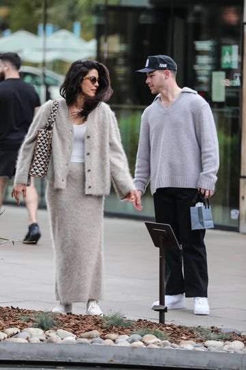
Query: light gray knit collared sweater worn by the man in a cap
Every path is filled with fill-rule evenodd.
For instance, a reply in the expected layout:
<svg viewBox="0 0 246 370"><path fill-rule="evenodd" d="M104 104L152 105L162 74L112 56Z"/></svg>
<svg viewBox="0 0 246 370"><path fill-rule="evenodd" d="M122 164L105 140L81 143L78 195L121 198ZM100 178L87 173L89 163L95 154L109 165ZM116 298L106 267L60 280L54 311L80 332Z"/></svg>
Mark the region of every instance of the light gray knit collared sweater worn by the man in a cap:
<svg viewBox="0 0 246 370"><path fill-rule="evenodd" d="M214 190L219 169L215 121L208 103L191 88L165 108L161 95L144 110L135 167L135 186Z"/></svg>

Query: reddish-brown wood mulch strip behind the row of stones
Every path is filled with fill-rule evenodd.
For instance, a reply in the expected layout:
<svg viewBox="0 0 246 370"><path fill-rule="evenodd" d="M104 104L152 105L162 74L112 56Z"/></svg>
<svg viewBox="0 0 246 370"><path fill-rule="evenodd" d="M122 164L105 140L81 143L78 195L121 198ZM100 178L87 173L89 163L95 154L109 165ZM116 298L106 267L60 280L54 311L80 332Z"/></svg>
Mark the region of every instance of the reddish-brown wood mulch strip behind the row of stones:
<svg viewBox="0 0 246 370"><path fill-rule="evenodd" d="M27 327L35 327L37 325L37 314L40 311L26 310L23 308L14 307L0 307L0 332L3 332L7 328L19 328L23 330ZM42 312L41 312L42 313ZM44 313L44 312L43 312ZM210 339L212 336L217 334L222 334L219 328L212 326L206 328L208 336L205 338L202 335L202 328L200 327L188 327L184 325L175 324L161 324L155 323L148 320L138 319L138 320L125 320L126 326L110 326L106 327L107 321L103 317L87 316L82 314L53 314L55 327L53 329L63 329L72 332L76 336L80 336L85 332L91 330L98 330L100 332L100 338L105 338L106 334L117 333L117 334L128 334L139 331L149 330L152 334L159 333L161 331L167 336L167 340L171 343L180 343L182 340L192 340L196 343L204 343L204 341ZM127 326L128 323L131 326ZM219 340L219 339L218 339ZM220 340L225 341L241 341L246 345L246 336L241 336L232 332Z"/></svg>

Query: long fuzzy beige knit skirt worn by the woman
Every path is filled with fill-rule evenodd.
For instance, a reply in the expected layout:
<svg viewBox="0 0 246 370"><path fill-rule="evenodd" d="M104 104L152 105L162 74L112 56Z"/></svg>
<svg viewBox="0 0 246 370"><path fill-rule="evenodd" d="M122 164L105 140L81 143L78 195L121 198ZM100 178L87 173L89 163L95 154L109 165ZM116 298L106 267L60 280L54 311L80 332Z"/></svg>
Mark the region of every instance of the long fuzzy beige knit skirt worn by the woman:
<svg viewBox="0 0 246 370"><path fill-rule="evenodd" d="M85 195L84 164L71 163L66 189L46 187L61 303L103 298L104 197Z"/></svg>

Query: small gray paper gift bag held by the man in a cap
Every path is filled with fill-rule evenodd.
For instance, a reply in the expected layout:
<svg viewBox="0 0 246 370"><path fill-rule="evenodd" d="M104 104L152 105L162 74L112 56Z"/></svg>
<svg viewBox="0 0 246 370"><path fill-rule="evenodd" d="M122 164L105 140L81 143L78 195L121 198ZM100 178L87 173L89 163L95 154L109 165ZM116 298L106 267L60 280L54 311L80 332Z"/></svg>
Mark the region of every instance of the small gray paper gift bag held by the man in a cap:
<svg viewBox="0 0 246 370"><path fill-rule="evenodd" d="M211 229L214 227L213 215L208 199L198 192L193 198L191 207L191 230Z"/></svg>

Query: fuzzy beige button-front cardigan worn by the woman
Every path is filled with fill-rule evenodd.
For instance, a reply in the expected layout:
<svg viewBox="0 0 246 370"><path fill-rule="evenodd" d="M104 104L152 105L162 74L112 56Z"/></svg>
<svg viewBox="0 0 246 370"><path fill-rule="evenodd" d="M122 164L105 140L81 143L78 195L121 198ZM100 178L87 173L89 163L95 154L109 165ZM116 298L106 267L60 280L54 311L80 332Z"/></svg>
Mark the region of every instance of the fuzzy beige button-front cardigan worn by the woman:
<svg viewBox="0 0 246 370"><path fill-rule="evenodd" d="M65 99L59 99L59 107L53 127L52 152L47 180L55 188L66 188L73 144L73 125ZM23 145L18 153L15 184L29 184L29 168L33 157L38 129L44 127L51 113L53 101L41 106ZM130 190L135 190L128 169L126 154L120 140L115 114L106 103L94 109L87 118L85 134L85 194L109 195L111 181L122 199Z"/></svg>

